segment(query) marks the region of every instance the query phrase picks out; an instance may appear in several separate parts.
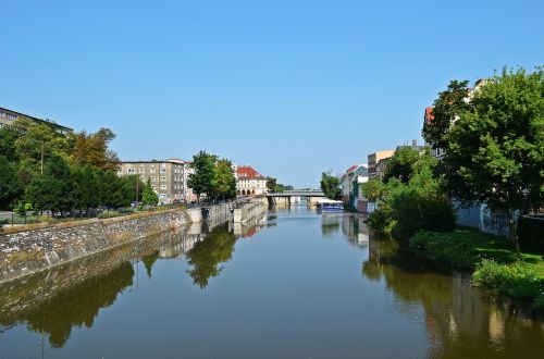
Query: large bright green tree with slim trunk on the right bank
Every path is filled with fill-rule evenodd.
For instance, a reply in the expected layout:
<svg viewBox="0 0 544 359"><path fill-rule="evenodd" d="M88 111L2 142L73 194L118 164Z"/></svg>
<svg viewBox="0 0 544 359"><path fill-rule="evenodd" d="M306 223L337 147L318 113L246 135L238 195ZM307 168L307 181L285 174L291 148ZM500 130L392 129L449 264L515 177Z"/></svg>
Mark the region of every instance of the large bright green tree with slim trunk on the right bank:
<svg viewBox="0 0 544 359"><path fill-rule="evenodd" d="M517 214L544 202L543 67L505 67L474 94L445 138L450 195L505 212L519 253Z"/></svg>

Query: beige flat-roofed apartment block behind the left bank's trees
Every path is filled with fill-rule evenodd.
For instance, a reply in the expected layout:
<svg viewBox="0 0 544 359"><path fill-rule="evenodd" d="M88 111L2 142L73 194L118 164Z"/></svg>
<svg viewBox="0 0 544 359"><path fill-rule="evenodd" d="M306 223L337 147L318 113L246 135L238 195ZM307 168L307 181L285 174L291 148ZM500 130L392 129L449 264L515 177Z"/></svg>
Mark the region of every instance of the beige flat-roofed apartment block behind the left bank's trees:
<svg viewBox="0 0 544 359"><path fill-rule="evenodd" d="M183 160L128 161L120 164L118 175L137 174L144 183L149 180L159 201L171 203L185 199L184 164Z"/></svg>

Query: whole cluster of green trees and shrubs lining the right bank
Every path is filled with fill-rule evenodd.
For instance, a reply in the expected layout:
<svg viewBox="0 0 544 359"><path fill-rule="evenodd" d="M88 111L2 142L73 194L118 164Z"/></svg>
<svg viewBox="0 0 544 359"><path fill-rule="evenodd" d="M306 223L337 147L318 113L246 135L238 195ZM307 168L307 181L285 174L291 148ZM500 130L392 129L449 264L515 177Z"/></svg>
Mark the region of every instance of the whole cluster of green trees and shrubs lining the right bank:
<svg viewBox="0 0 544 359"><path fill-rule="evenodd" d="M399 238L455 225L452 200L485 203L508 218L517 251L519 215L544 206L544 71L504 69L470 89L452 81L438 94L423 137L444 153L438 161L401 149L384 181L369 181L364 196L378 202L371 226Z"/></svg>

